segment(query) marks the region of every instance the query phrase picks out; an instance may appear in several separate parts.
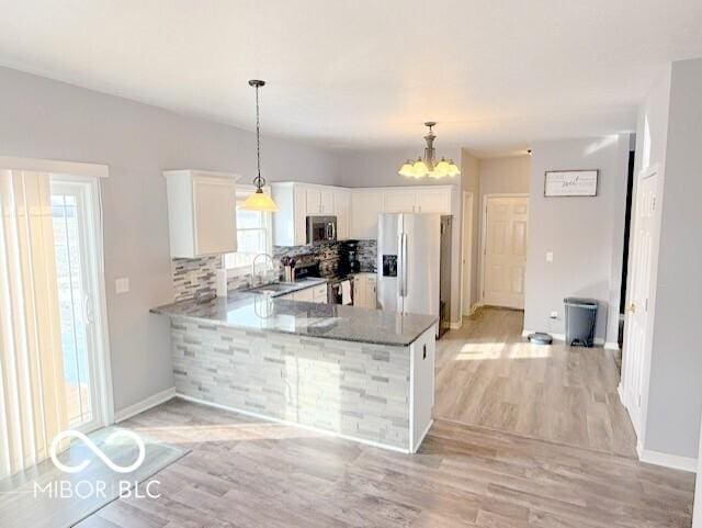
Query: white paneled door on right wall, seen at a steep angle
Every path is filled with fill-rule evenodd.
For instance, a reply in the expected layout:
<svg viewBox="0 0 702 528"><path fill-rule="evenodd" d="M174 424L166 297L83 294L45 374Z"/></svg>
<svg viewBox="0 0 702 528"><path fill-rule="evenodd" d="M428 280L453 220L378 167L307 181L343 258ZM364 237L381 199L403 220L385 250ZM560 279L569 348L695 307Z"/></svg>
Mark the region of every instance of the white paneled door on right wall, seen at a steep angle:
<svg viewBox="0 0 702 528"><path fill-rule="evenodd" d="M625 405L639 439L642 438L642 391L646 362L649 292L657 231L657 171L642 175L636 191L632 281L626 305L626 333L622 355L622 386Z"/></svg>

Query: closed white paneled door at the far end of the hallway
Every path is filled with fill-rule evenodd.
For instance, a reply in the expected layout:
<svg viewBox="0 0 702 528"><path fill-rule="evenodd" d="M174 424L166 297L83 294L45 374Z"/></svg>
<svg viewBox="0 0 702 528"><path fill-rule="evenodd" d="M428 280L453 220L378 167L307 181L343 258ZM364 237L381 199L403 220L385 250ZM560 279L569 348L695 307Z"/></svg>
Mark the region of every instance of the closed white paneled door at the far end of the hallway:
<svg viewBox="0 0 702 528"><path fill-rule="evenodd" d="M486 199L483 304L524 308L528 216L526 196Z"/></svg>

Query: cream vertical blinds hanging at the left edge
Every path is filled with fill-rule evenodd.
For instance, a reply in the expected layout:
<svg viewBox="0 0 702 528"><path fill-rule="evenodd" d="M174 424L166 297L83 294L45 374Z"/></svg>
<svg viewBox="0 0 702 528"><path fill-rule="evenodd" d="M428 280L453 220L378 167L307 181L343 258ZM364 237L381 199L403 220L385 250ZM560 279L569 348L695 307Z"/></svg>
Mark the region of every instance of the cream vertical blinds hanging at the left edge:
<svg viewBox="0 0 702 528"><path fill-rule="evenodd" d="M49 175L0 170L0 478L66 428Z"/></svg>

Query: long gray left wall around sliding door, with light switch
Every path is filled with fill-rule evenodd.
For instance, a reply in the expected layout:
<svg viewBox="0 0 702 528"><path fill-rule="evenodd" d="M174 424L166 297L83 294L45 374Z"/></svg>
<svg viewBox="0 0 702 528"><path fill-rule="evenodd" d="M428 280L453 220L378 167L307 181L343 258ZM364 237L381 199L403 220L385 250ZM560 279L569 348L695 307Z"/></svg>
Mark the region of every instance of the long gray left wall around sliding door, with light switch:
<svg viewBox="0 0 702 528"><path fill-rule="evenodd" d="M249 180L254 136L7 68L0 100L0 155L110 166L102 199L116 411L173 386L168 322L148 313L173 299L161 171L223 170ZM340 182L331 153L264 138L262 154L271 180ZM115 295L114 279L124 276L132 291Z"/></svg>

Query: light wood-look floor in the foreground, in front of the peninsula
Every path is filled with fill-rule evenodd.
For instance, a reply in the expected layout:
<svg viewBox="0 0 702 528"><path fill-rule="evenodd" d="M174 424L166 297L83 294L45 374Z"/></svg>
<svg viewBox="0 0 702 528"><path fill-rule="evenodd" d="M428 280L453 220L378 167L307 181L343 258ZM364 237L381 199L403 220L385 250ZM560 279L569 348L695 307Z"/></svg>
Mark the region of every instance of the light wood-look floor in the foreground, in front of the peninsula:
<svg viewBox="0 0 702 528"><path fill-rule="evenodd" d="M122 425L192 451L80 528L690 526L690 473L449 422L415 456L180 400Z"/></svg>

